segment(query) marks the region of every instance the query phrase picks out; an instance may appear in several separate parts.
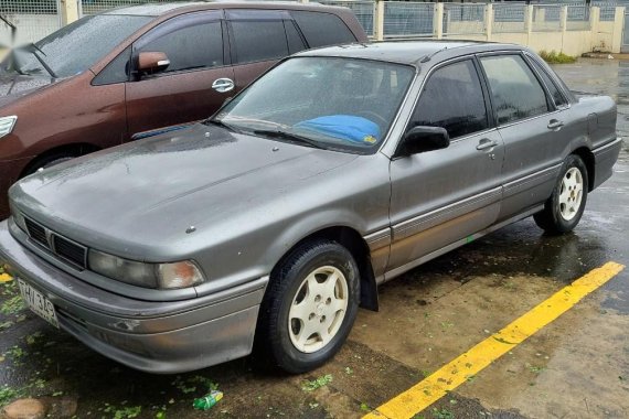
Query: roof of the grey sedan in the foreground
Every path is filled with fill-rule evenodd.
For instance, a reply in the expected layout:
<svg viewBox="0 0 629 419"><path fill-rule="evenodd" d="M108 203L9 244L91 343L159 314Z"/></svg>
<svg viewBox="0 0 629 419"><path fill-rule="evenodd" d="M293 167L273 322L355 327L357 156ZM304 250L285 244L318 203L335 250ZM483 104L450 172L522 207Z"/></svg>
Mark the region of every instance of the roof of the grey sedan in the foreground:
<svg viewBox="0 0 629 419"><path fill-rule="evenodd" d="M525 47L483 41L385 41L328 46L303 51L297 55L353 57L418 66L420 63L433 61L433 58L440 62L459 55L501 50L525 50Z"/></svg>

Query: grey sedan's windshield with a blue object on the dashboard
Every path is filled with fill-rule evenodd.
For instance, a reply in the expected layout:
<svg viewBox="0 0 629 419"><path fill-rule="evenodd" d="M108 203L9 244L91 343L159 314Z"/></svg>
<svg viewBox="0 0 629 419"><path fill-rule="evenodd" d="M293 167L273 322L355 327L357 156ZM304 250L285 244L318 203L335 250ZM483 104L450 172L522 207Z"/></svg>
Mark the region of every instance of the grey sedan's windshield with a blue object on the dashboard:
<svg viewBox="0 0 629 419"><path fill-rule="evenodd" d="M297 57L271 69L215 117L260 137L372 153L382 143L414 75L401 64Z"/></svg>

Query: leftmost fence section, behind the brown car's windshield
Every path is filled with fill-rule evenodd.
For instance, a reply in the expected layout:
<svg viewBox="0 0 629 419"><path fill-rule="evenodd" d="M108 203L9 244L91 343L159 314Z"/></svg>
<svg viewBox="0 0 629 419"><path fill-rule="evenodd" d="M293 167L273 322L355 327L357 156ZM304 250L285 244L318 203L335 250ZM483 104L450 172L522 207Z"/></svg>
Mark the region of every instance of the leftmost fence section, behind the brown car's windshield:
<svg viewBox="0 0 629 419"><path fill-rule="evenodd" d="M0 21L0 44L10 45L39 40L61 28L60 0L1 0L0 14L17 28Z"/></svg>

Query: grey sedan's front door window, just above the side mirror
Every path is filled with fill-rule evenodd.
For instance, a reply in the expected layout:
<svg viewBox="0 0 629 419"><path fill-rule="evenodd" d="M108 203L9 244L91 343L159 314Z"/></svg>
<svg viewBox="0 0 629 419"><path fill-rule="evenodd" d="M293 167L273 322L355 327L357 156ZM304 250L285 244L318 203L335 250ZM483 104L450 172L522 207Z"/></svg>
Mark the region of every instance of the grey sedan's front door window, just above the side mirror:
<svg viewBox="0 0 629 419"><path fill-rule="evenodd" d="M433 73L422 92L412 125L445 128L450 138L488 128L482 87L471 60Z"/></svg>

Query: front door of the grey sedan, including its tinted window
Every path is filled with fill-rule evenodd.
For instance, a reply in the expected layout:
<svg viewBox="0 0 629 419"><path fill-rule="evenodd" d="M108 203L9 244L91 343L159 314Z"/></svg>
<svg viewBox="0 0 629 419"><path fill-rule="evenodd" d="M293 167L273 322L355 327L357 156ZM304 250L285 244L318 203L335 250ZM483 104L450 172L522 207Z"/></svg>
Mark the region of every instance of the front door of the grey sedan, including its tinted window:
<svg viewBox="0 0 629 419"><path fill-rule="evenodd" d="M487 96L473 57L437 67L428 76L408 128L443 127L450 146L391 162L387 278L495 222L504 148Z"/></svg>

